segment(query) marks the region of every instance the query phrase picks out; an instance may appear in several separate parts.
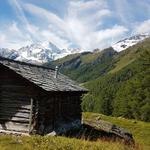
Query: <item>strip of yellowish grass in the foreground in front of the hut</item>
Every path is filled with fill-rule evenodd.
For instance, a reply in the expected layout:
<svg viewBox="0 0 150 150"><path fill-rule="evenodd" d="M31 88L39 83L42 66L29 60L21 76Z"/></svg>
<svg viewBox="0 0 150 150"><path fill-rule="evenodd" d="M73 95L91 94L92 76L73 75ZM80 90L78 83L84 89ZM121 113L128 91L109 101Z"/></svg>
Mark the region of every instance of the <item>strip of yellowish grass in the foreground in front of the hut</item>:
<svg viewBox="0 0 150 150"><path fill-rule="evenodd" d="M1 150L132 150L117 142L89 142L65 137L12 137L0 136Z"/></svg>

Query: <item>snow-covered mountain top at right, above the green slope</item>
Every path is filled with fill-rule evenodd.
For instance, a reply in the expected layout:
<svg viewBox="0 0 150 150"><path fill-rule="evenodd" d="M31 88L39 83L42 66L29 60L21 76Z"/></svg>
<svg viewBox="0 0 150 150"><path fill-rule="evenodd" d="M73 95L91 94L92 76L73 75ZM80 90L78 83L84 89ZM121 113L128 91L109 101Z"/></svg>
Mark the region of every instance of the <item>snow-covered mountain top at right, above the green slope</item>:
<svg viewBox="0 0 150 150"><path fill-rule="evenodd" d="M146 39L148 37L150 37L150 33L138 34L138 35L132 36L130 38L121 40L121 41L113 44L112 47L117 52L120 52L122 50L125 50L125 49L137 44L140 41L143 41L144 39Z"/></svg>

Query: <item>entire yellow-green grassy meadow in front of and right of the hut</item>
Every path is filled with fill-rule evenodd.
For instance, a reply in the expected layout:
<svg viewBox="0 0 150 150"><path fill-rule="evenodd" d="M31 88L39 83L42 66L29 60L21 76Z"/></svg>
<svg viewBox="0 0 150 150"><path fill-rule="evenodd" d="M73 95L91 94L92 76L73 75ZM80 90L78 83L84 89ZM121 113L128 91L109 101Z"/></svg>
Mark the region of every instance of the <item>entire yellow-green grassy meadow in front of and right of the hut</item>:
<svg viewBox="0 0 150 150"><path fill-rule="evenodd" d="M0 136L0 150L149 150L150 149L150 123L123 118L108 117L96 113L83 113L84 118L95 119L100 116L131 131L134 135L136 147L124 145L121 142L97 140L86 141L84 138L31 136L19 137L10 135Z"/></svg>

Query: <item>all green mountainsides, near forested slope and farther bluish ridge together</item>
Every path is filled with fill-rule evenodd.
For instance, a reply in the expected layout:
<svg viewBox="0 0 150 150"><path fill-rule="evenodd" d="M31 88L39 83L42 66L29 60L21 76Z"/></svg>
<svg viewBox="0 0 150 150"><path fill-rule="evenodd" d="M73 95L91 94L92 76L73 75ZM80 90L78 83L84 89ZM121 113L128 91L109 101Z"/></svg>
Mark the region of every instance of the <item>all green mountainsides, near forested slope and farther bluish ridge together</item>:
<svg viewBox="0 0 150 150"><path fill-rule="evenodd" d="M120 53L112 48L74 54L51 65L83 83L83 111L150 121L150 39Z"/></svg>

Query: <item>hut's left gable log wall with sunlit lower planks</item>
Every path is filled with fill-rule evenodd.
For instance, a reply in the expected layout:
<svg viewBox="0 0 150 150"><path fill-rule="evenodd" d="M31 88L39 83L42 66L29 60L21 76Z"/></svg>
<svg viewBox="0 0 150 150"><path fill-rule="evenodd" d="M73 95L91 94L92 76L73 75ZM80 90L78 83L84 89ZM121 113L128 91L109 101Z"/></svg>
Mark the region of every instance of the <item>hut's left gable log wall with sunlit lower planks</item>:
<svg viewBox="0 0 150 150"><path fill-rule="evenodd" d="M36 97L26 80L0 66L0 130L29 132L30 100Z"/></svg>

